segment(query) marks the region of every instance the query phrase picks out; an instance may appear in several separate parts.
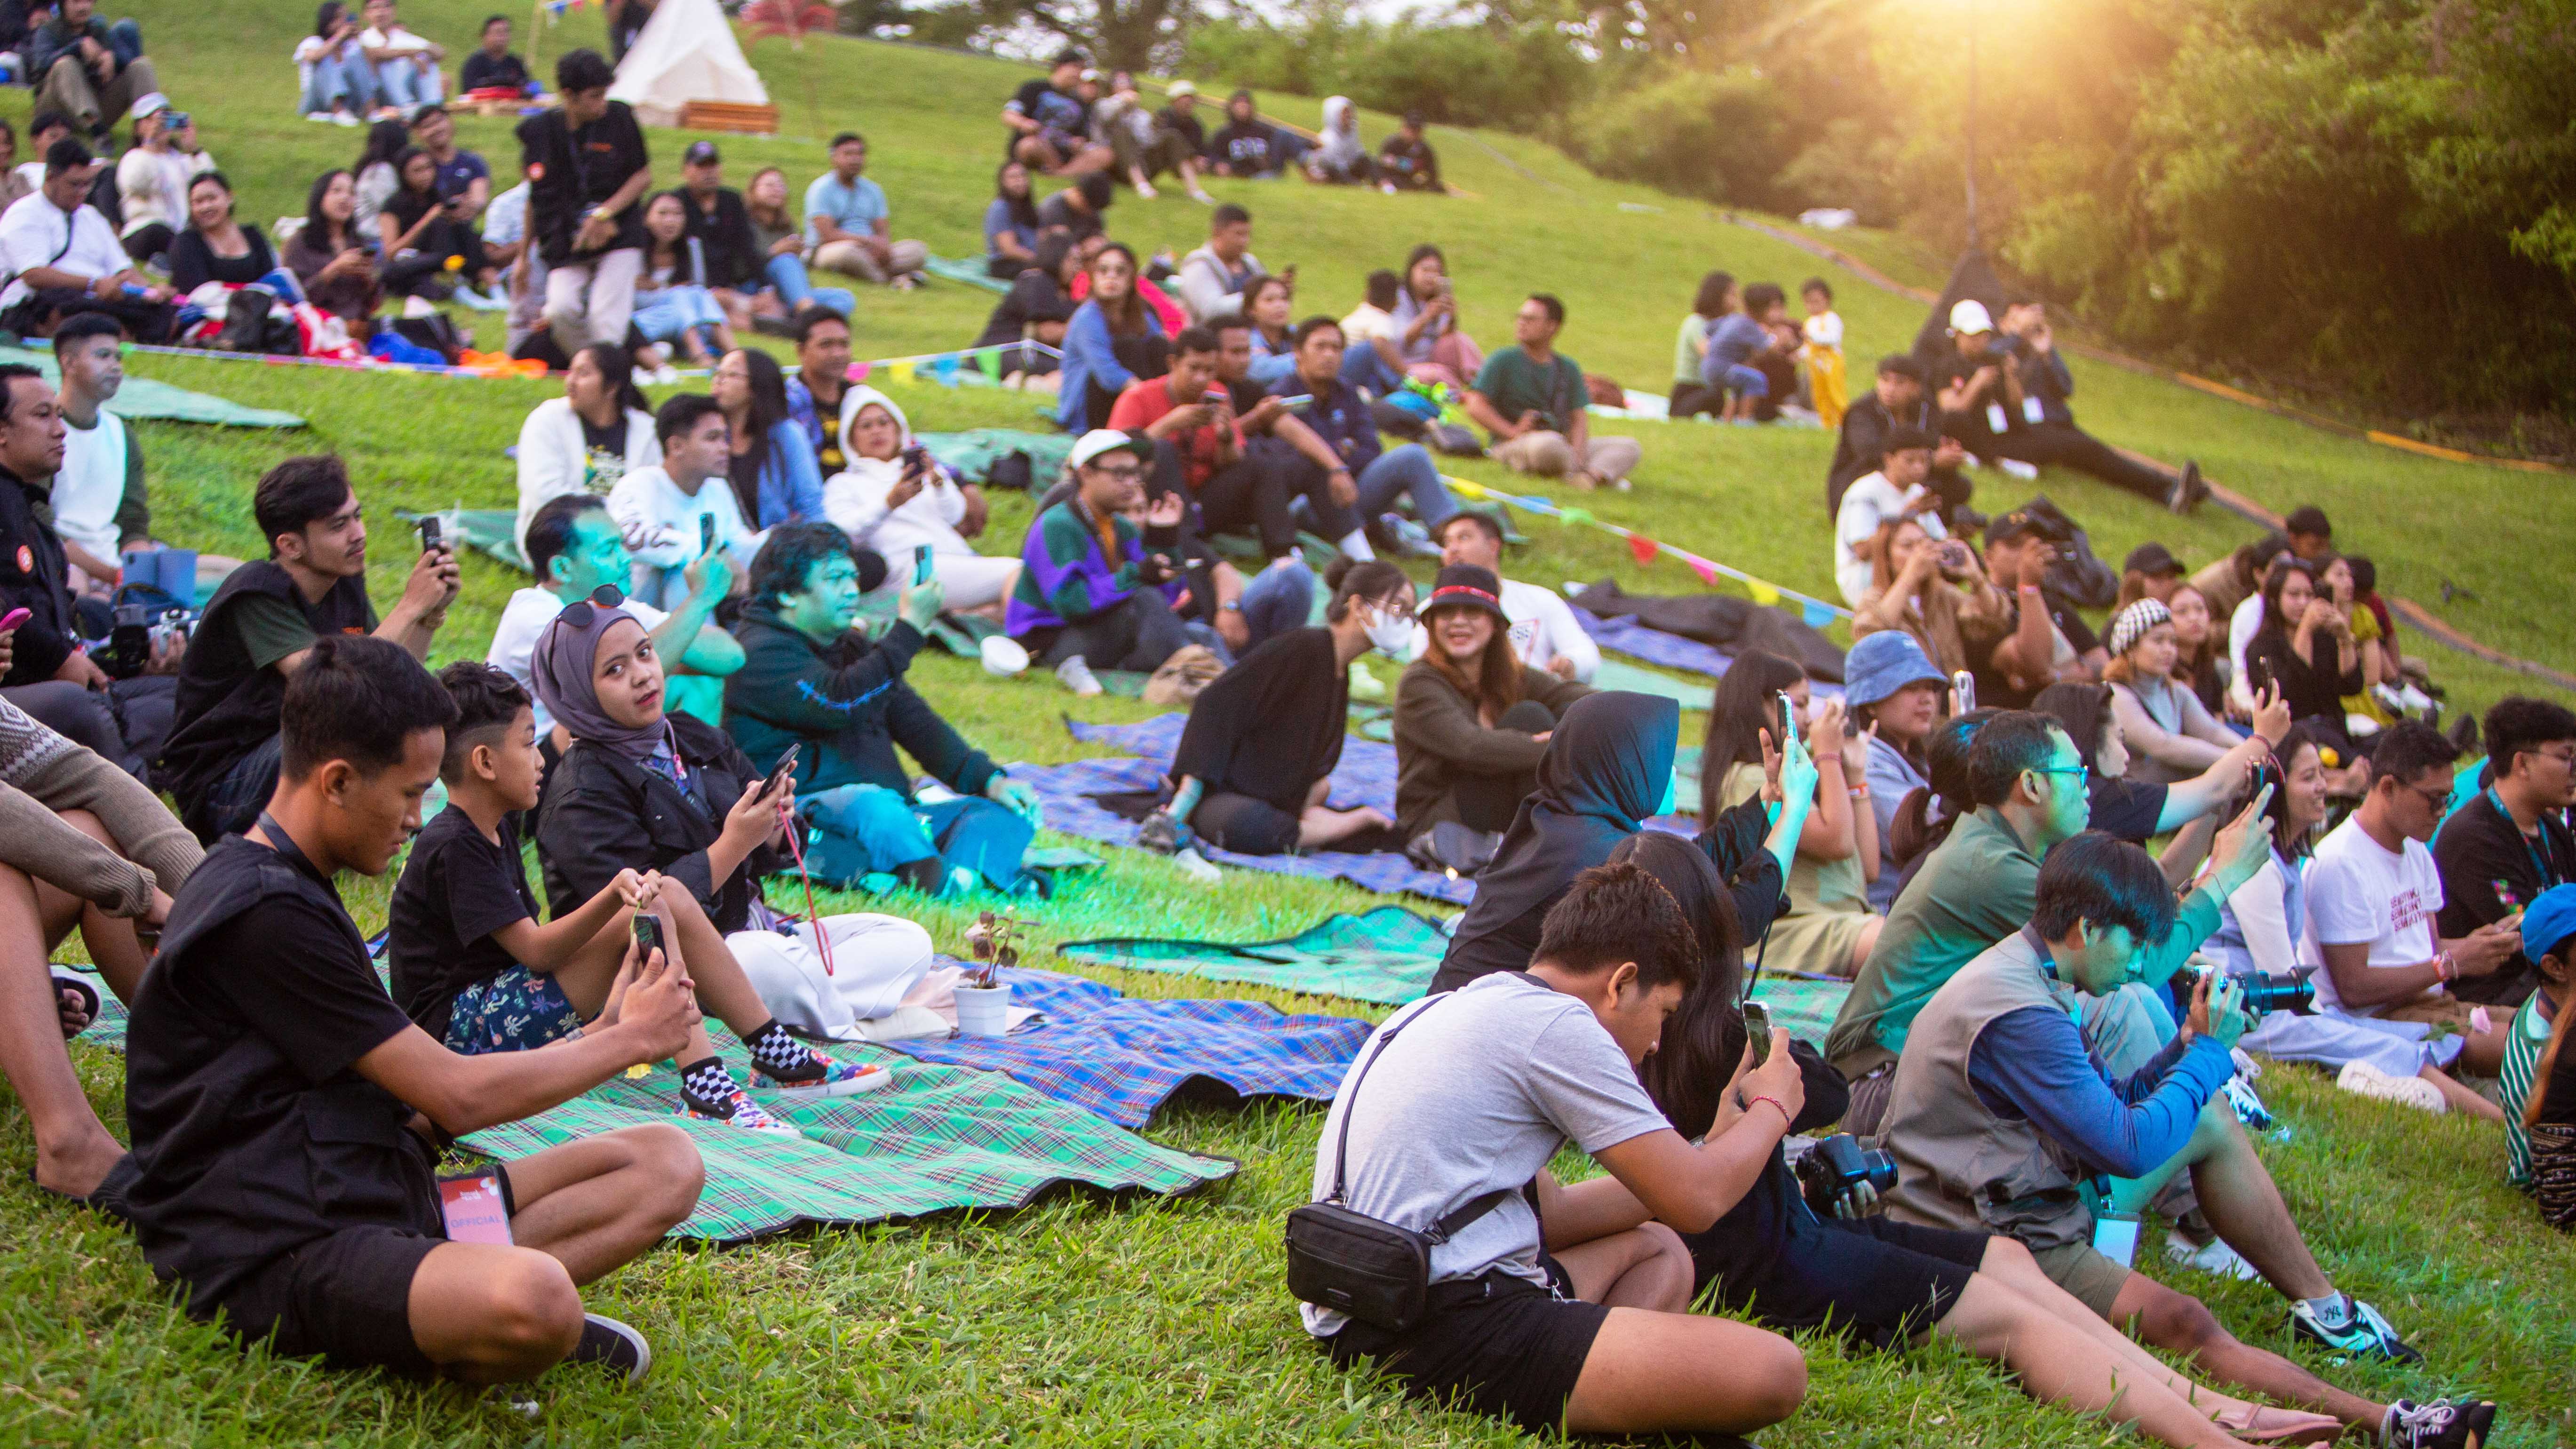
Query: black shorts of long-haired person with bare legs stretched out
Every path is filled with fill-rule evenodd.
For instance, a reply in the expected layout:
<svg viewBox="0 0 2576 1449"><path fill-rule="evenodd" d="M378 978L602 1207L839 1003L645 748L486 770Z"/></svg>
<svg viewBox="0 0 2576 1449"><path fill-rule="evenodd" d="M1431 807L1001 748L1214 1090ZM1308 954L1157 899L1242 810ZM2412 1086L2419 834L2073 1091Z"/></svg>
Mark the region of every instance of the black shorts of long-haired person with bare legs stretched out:
<svg viewBox="0 0 2576 1449"><path fill-rule="evenodd" d="M1940 1323L1986 1261L1986 1232L1888 1217L1821 1217L1814 1225L1821 1232L1793 1232L1780 1245L1770 1274L1721 1279L1718 1302L1770 1328L1832 1323L1886 1348Z"/></svg>

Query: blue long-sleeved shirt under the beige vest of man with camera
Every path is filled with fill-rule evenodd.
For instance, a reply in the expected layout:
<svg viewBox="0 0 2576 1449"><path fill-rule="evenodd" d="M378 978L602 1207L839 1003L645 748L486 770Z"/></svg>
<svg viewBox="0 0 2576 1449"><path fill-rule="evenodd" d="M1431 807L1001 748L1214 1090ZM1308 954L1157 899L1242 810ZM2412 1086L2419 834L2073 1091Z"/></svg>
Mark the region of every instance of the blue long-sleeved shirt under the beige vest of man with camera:
<svg viewBox="0 0 2576 1449"><path fill-rule="evenodd" d="M2048 946L2022 928L2056 980ZM2089 1171L2143 1178L2192 1140L2200 1109L2236 1075L2215 1036L2174 1036L2164 1052L2115 1080L2074 1016L2025 1006L1986 1024L1968 1047L1968 1083L1996 1116L2022 1116Z"/></svg>

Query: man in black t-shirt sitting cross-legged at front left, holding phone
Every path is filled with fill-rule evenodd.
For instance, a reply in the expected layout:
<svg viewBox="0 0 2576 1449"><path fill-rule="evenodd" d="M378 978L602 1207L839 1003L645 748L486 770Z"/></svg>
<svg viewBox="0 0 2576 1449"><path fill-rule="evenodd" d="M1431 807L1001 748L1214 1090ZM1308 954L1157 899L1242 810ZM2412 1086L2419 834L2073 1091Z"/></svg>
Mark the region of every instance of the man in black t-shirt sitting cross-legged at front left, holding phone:
<svg viewBox="0 0 2576 1449"><path fill-rule="evenodd" d="M634 1379L644 1338L585 1315L577 1284L696 1207L688 1134L585 1137L497 1163L469 1191L443 1194L435 1163L451 1137L677 1052L696 1021L685 964L636 962L616 1026L459 1057L384 993L332 887L337 871L384 874L417 828L453 717L402 647L312 645L286 686L278 789L180 887L134 1000L134 1152L100 1194L193 1318L222 1312L273 1354L461 1382L572 1359ZM451 1220L474 1232L451 1238Z"/></svg>

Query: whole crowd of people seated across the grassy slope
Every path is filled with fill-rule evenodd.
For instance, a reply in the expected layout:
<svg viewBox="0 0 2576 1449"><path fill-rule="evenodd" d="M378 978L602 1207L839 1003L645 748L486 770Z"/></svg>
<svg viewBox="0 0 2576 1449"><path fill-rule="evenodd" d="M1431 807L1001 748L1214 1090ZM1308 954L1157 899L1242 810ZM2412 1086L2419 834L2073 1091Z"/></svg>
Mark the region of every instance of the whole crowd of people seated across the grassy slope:
<svg viewBox="0 0 2576 1449"><path fill-rule="evenodd" d="M618 10L629 39L639 13ZM1077 694L1103 670L1193 678L1172 768L1136 804L1144 848L1383 851L1476 877L1432 995L1363 1044L1316 1147L1332 1232L1425 1250L1412 1302L1347 1258L1298 1258L1291 1225L1303 1328L1334 1364L1530 1431L1749 1434L1803 1400L1783 1333L1834 1323L1878 1348L1937 1333L2164 1444L2483 1441L2494 1403L2375 1400L2236 1338L2136 1271L2138 1222L2174 1222L2177 1266L2269 1284L2303 1343L2416 1359L2275 1189L2246 1129L2259 1052L2499 1122L2509 1178L2576 1225L2576 712L2504 699L2463 763L2416 717L2432 701L2370 559L2336 554L2316 508L2200 575L2136 549L2097 634L2056 578L2061 518L1984 518L1963 469L2058 462L2177 508L2197 469L2169 480L2074 428L2035 304L2002 330L1960 304L1953 364L1888 358L1844 410L1824 281L1801 289L1803 327L1777 286L1703 281L1674 415L1765 420L1803 394L1839 425L1834 570L1857 619L1839 699L1788 657L1734 657L1685 799L1680 706L1597 691L1564 598L1502 578L1502 521L1383 436L1391 394L1450 387L1504 467L1623 485L1641 449L1592 436L1558 297L1530 294L1486 353L1432 245L1347 317L1298 320L1296 268L1260 263L1244 206L1164 268L1100 219L1113 175L1151 196L1162 170L1193 193L1283 170L1437 188L1419 121L1370 157L1340 98L1309 147L1247 95L1200 137L1185 83L1149 116L1082 57L1025 85L987 214L1010 281L987 340L1023 345L1012 371L1051 379L1074 441L1018 549L987 552L981 487L853 382L853 291L811 284L909 286L925 263L863 137L832 139L801 219L778 170L726 188L711 142L657 193L608 62L572 52L562 106L518 131L526 180L495 193L438 106L443 52L410 44L392 0L366 21L325 5L327 44L299 49L312 111L376 126L358 168L314 180L283 266L353 322L386 297L505 304L515 345L564 374L515 449L533 583L482 660L448 639L469 657L422 663L461 578L433 531L379 616L337 456L260 477L265 557L155 536L144 454L100 410L118 343L165 335L180 281L255 284L278 258L149 70L121 106L121 229L85 201L77 134L46 139L36 191L0 217L0 253L52 258L0 307L62 374L0 364L0 1070L36 1183L126 1217L191 1315L335 1366L639 1377L649 1346L585 1312L580 1284L693 1209L690 1137L492 1165L474 1191L507 1243L448 1232L438 1150L649 1062L677 1067L677 1114L760 1134L793 1132L775 1104L884 1085L814 1042L896 1013L930 933L796 920L762 877L1048 890L1025 864L1036 792L912 681L971 621L989 660L1007 642ZM528 85L507 39L484 26L466 90ZM397 88L399 119L379 116ZM1072 186L1041 204L1041 173ZM793 371L742 330L791 335ZM649 405L636 382L667 356L708 389ZM1337 552L1321 578L1301 534ZM1381 549L1437 557L1432 585ZM193 627L131 629L137 578L180 614L204 588ZM889 624L863 621L871 598ZM1391 817L1332 804L1370 652L1404 663ZM422 820L433 786L446 807ZM386 874L407 841L386 987L332 879ZM57 1039L103 1011L46 967L72 928L131 1016L131 1147ZM1744 1006L1747 954L1850 980L1821 1052ZM1834 1124L1850 1137L1816 1137ZM1566 1142L1605 1176L1558 1183Z"/></svg>

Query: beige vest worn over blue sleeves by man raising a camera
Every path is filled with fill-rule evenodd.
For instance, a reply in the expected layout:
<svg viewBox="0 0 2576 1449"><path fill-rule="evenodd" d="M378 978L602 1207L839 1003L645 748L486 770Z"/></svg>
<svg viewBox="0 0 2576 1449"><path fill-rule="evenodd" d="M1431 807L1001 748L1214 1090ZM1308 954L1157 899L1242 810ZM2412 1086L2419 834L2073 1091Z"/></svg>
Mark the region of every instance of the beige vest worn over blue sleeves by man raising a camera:
<svg viewBox="0 0 2576 1449"><path fill-rule="evenodd" d="M2092 1243L2092 1207L2056 1145L2025 1119L1996 1116L1968 1080L1968 1049L2007 1011L2069 1011L2030 936L2014 931L1932 993L1906 1052L1880 1145L1896 1158L1888 1214L1960 1232L2002 1232L2027 1248Z"/></svg>

